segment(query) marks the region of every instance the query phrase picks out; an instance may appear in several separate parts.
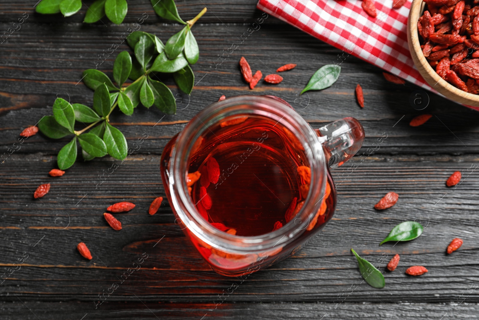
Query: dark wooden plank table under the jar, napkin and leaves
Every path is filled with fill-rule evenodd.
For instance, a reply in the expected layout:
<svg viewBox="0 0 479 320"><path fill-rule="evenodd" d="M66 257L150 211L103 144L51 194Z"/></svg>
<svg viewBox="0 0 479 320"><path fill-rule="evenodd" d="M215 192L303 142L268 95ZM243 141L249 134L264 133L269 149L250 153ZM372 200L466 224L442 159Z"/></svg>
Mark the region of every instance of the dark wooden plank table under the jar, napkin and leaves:
<svg viewBox="0 0 479 320"><path fill-rule="evenodd" d="M471 167L479 165L479 113L431 93L420 93L422 105L411 103L417 86L388 83L380 69L274 17L218 64L218 55L239 43L262 12L255 9L255 0L204 1L177 1L180 15L188 19L208 7L194 26L200 59L193 66L198 83L189 101L178 99L176 115L165 116L155 107L139 107L131 117L115 112L112 122L128 143L144 133L148 139L102 184L99 175L119 161L79 161L65 176L49 178L47 172L56 167L56 154L67 140L41 134L0 164L0 274L28 255L0 284L0 319L478 319L479 178ZM143 12L148 18L141 30L163 41L179 30L154 14L147 0L129 1L121 25L107 19L82 24L85 7L69 18L38 15L35 2L0 1L1 33L28 14L21 29L0 43L1 154L12 148L21 130L51 114L57 96L91 106L93 95L80 81L81 72L94 68L98 55ZM128 49L125 43L119 47ZM99 68L110 76L116 53ZM263 74L285 63L298 66L280 85L261 83L251 91L239 73L241 56ZM298 99L312 73L331 63L341 63L337 83ZM355 102L357 83L364 88L364 109ZM172 81L168 84L175 95L181 93ZM358 165L352 172L349 164L333 170L338 206L320 237L295 256L251 275L216 306L218 295L237 279L210 270L175 225L168 204L154 216L147 212L155 196L164 195L159 159L169 139L220 95L243 94L278 95L314 128L355 117L365 128L360 154L367 156L351 160ZM427 107L418 110L426 100ZM422 113L433 118L410 127L410 119ZM384 135L387 139L375 143ZM445 180L456 170L462 171L463 181L447 189ZM34 201L32 191L46 182L52 182L50 192ZM399 193L399 202L375 211L373 205L388 190ZM121 232L102 217L104 208L116 201L137 204L122 214ZM423 235L378 247L405 220L422 222ZM454 237L463 238L464 245L448 256L445 248ZM76 251L80 240L89 243L92 261ZM370 261L388 256L380 264L386 277L383 289L361 284L351 248ZM141 269L95 306L98 295L118 282L143 252L148 259ZM388 273L384 267L396 253L401 255L399 267ZM405 269L416 264L429 273L407 276Z"/></svg>

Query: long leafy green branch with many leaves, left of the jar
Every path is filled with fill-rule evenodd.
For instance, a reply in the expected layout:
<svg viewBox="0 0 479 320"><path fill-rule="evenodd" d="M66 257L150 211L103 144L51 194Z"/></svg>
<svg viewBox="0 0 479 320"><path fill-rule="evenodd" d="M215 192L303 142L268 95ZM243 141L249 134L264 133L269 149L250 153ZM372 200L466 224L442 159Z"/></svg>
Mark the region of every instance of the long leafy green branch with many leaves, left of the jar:
<svg viewBox="0 0 479 320"><path fill-rule="evenodd" d="M160 2L162 5L158 4L155 11L165 5L169 6L166 13L162 12L165 17L182 21L172 0ZM116 56L113 65L116 84L102 71L83 71L83 82L94 91L92 108L79 103L70 104L62 98L55 100L53 116L42 118L38 128L52 139L73 135L73 139L58 153L57 164L61 170L68 169L75 163L77 141L84 160L106 154L119 160L126 158L128 146L125 136L110 124L110 115L116 107L127 116L131 116L140 103L147 108L154 105L167 114L176 113L175 97L171 90L152 76L156 72L172 74L178 87L187 94L191 93L194 73L189 63L196 63L199 57L199 48L191 27L205 12L206 8L194 19L183 22L185 27L171 36L166 45L153 34L143 31L131 33L126 42L134 51L134 59L128 51L122 51ZM128 78L133 82L125 85ZM78 122L89 125L75 130Z"/></svg>

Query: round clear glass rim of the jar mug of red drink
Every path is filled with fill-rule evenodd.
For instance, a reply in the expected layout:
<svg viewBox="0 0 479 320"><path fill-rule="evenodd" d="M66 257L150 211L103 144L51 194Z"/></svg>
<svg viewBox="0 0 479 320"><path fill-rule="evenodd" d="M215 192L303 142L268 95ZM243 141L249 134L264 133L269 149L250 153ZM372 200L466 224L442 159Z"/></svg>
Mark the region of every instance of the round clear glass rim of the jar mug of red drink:
<svg viewBox="0 0 479 320"><path fill-rule="evenodd" d="M209 126L222 119L240 114L266 116L293 132L303 144L310 162L311 184L305 204L296 219L282 228L259 236L236 236L220 231L207 222L197 211L187 190L185 173L194 142ZM247 253L284 246L305 232L309 220L319 210L320 201L311 199L324 196L327 180L325 155L316 132L292 107L272 97L241 95L218 101L199 112L179 133L171 154L169 188L172 205L186 227L208 245L230 252ZM298 220L299 219L299 220Z"/></svg>

